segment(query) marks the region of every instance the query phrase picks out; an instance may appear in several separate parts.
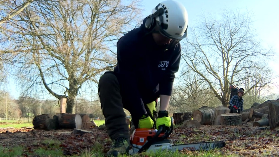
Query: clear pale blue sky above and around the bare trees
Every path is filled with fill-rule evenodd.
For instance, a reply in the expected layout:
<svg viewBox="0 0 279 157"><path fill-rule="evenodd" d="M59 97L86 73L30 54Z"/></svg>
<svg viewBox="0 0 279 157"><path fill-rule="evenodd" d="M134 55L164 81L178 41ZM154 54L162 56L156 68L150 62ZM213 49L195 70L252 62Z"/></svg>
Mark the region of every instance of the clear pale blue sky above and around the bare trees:
<svg viewBox="0 0 279 157"><path fill-rule="evenodd" d="M162 0L143 0L142 5L145 7L143 15L151 14L152 9ZM218 14L221 9L229 8L235 9L248 9L254 13L253 27L256 28L258 38L262 41L262 45L268 48L272 46L276 52L279 52L279 20L278 20L278 6L279 1L267 0L265 2L259 0L234 0L234 1L221 1L221 0L177 0L186 7L189 16L189 27L194 25L195 21L199 19L202 12ZM270 62L270 66L274 72L279 74L279 63ZM179 73L179 72L178 72ZM279 79L278 79L279 82ZM7 87L14 98L19 96L13 82L10 82Z"/></svg>

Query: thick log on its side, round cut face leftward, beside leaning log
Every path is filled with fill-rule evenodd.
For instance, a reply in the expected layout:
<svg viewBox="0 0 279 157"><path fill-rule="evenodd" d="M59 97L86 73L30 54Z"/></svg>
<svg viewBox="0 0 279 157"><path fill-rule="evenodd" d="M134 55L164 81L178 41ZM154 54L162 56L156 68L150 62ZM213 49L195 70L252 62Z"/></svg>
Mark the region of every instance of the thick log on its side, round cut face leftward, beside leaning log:
<svg viewBox="0 0 279 157"><path fill-rule="evenodd" d="M202 125L211 125L214 115L214 108L203 106L192 113L193 120L197 120Z"/></svg>

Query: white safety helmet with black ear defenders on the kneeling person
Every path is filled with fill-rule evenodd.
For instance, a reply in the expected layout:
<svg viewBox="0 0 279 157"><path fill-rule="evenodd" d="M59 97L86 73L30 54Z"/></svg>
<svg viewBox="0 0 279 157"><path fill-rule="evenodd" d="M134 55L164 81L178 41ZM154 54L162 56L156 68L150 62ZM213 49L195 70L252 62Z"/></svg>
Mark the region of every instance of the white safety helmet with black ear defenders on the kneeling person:
<svg viewBox="0 0 279 157"><path fill-rule="evenodd" d="M187 37L188 13L182 3L174 0L159 3L147 17L146 28L155 25L154 19L162 35L176 40Z"/></svg>

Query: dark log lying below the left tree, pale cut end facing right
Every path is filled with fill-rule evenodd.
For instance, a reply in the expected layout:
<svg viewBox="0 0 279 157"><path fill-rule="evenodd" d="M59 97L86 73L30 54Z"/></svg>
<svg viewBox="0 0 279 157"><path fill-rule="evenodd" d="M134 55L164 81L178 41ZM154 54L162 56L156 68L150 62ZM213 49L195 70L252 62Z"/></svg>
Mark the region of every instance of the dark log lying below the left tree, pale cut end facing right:
<svg viewBox="0 0 279 157"><path fill-rule="evenodd" d="M61 129L81 129L82 127L82 120L79 114L61 114L58 122Z"/></svg>

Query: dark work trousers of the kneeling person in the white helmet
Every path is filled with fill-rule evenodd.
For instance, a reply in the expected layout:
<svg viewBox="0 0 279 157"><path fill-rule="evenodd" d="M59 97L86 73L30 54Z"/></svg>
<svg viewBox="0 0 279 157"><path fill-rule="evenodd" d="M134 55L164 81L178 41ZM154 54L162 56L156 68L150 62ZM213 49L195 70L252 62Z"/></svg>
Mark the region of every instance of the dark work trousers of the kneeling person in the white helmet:
<svg viewBox="0 0 279 157"><path fill-rule="evenodd" d="M133 116L137 112L133 110L133 105L125 103L123 105L120 89L113 71L107 71L101 76L98 92L101 109L105 116L105 126L111 140L119 137L129 138L129 126L126 123L126 114L123 108L130 112L135 128L137 128L139 121L139 117ZM145 108L148 110L146 106Z"/></svg>

